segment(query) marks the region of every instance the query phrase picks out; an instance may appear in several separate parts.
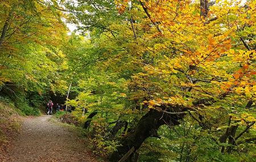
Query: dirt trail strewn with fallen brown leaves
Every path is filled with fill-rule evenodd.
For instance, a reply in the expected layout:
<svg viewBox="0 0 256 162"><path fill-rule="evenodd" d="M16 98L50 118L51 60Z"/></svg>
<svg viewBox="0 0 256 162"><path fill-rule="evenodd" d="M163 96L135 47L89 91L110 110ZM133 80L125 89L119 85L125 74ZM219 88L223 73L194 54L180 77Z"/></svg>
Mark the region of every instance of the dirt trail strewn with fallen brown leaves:
<svg viewBox="0 0 256 162"><path fill-rule="evenodd" d="M27 118L22 132L8 150L6 161L97 161L76 132L49 122L50 116ZM86 151L87 150L87 151Z"/></svg>

